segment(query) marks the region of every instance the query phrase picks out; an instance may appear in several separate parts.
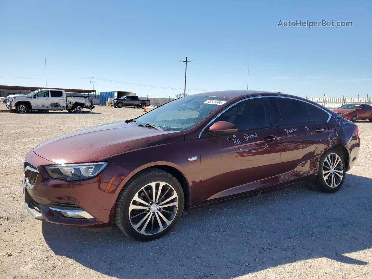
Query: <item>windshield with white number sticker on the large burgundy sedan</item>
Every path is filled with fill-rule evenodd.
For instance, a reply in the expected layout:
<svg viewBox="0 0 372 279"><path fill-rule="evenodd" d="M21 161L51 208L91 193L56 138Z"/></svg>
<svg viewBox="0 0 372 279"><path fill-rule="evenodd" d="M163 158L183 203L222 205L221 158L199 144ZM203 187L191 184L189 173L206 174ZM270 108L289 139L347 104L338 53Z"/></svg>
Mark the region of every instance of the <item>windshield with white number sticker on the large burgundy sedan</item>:
<svg viewBox="0 0 372 279"><path fill-rule="evenodd" d="M136 118L137 124L150 124L166 131L184 131L226 103L227 98L182 97Z"/></svg>

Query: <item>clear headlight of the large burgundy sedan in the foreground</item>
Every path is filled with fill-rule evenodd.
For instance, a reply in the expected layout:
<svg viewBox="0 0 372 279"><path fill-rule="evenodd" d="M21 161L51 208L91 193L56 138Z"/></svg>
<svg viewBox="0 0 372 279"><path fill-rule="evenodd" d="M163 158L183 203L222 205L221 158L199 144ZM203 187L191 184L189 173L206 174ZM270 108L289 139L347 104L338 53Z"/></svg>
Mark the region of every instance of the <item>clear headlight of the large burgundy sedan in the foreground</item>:
<svg viewBox="0 0 372 279"><path fill-rule="evenodd" d="M86 179L96 176L108 165L101 163L63 164L45 166L49 175L53 178L71 180Z"/></svg>

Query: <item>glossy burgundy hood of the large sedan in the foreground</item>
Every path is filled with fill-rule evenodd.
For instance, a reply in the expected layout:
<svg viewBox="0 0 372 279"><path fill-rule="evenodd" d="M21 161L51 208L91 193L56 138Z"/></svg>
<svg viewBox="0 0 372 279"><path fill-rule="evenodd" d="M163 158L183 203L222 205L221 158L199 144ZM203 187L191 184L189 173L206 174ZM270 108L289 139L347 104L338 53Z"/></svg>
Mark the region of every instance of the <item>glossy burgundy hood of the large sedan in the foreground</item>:
<svg viewBox="0 0 372 279"><path fill-rule="evenodd" d="M183 132L160 131L124 121L93 126L45 141L33 148L57 164L105 161L113 155L185 140Z"/></svg>

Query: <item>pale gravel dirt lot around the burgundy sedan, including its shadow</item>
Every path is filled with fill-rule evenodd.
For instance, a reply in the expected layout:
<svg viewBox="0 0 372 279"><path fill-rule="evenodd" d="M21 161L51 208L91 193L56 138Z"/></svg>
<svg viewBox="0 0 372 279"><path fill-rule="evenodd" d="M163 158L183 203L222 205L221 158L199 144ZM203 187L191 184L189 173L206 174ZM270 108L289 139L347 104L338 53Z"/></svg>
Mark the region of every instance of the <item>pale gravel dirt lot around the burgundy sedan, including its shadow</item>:
<svg viewBox="0 0 372 279"><path fill-rule="evenodd" d="M6 109L0 104L0 110ZM357 166L334 194L292 187L185 212L148 243L35 220L23 158L67 132L142 110L0 113L0 278L372 278L372 123L358 122ZM93 139L92 139L93 140Z"/></svg>

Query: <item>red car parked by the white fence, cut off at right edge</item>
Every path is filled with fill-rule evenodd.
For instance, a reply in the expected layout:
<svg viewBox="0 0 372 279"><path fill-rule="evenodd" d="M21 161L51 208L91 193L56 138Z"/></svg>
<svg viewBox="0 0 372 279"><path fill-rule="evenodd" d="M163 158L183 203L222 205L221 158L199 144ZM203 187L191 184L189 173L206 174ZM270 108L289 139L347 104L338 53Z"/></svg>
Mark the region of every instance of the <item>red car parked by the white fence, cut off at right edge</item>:
<svg viewBox="0 0 372 279"><path fill-rule="evenodd" d="M370 105L346 104L333 111L352 122L363 119L372 121L372 107Z"/></svg>

